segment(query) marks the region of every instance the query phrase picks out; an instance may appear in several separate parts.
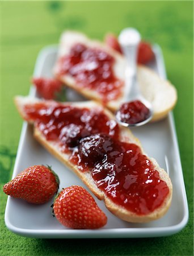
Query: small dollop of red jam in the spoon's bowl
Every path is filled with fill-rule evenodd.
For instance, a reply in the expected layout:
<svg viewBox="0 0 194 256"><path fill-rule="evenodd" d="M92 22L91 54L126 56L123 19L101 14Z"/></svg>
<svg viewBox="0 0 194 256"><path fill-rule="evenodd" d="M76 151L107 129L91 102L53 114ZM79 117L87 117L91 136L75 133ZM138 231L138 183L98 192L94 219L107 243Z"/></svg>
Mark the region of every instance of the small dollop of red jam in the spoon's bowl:
<svg viewBox="0 0 194 256"><path fill-rule="evenodd" d="M121 105L117 117L124 123L140 123L150 117L150 110L139 100L130 101Z"/></svg>

